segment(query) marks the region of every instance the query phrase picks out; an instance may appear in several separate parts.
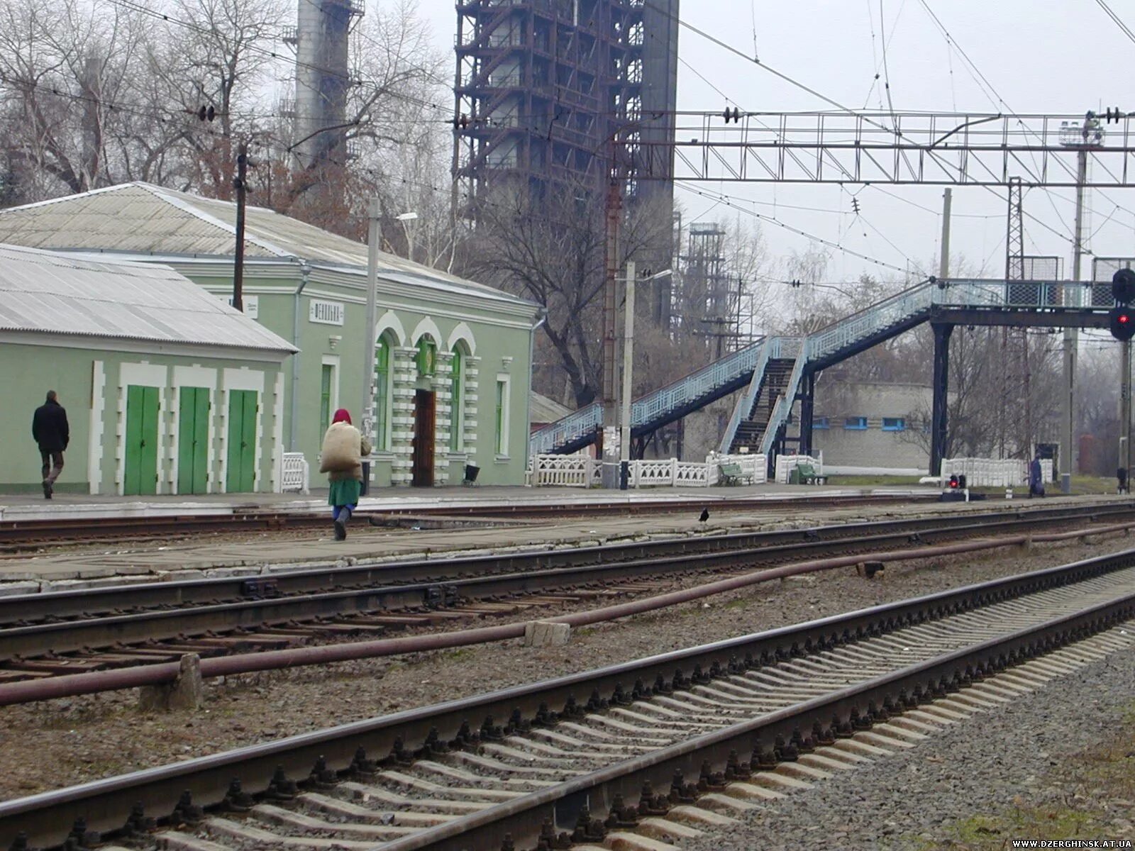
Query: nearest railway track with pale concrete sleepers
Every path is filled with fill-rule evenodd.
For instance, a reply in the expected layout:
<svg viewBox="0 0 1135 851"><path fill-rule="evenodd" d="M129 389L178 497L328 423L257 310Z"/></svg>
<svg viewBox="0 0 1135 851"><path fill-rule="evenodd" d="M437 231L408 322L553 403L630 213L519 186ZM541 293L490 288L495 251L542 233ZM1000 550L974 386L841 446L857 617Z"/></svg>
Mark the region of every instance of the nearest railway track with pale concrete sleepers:
<svg viewBox="0 0 1135 851"><path fill-rule="evenodd" d="M682 836L1129 650L1133 617L1129 550L8 801L0 846Z"/></svg>

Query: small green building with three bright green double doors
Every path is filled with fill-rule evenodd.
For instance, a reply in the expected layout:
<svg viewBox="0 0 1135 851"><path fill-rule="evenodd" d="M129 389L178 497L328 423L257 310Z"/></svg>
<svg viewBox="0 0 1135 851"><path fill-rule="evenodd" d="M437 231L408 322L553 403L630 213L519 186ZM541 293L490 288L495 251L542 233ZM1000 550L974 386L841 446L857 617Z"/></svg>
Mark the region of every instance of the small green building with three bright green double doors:
<svg viewBox="0 0 1135 851"><path fill-rule="evenodd" d="M57 489L275 490L287 340L169 267L0 244L0 489L40 489L32 413L70 443Z"/></svg>

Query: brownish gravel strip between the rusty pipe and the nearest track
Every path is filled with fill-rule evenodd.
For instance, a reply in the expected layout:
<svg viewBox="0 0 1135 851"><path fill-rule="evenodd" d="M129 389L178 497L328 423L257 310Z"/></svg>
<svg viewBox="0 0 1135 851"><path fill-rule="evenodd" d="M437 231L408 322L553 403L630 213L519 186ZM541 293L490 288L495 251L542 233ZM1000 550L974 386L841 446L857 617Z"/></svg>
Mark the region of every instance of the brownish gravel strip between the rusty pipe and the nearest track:
<svg viewBox="0 0 1135 851"><path fill-rule="evenodd" d="M426 706L600 665L772 629L890 600L1125 549L1043 545L888 565L867 581L852 570L756 585L624 621L585 627L564 648L520 641L209 681L205 706L161 715L136 692L0 709L0 799L96 780ZM589 606L590 607L590 606Z"/></svg>

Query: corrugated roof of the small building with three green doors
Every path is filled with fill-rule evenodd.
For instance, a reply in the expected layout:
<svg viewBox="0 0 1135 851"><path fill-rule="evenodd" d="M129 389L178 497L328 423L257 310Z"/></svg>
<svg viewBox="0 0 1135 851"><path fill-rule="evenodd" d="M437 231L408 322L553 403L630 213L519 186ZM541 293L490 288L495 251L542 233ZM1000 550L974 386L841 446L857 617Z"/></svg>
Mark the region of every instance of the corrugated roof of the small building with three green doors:
<svg viewBox="0 0 1135 851"><path fill-rule="evenodd" d="M296 351L169 267L3 244L0 330Z"/></svg>

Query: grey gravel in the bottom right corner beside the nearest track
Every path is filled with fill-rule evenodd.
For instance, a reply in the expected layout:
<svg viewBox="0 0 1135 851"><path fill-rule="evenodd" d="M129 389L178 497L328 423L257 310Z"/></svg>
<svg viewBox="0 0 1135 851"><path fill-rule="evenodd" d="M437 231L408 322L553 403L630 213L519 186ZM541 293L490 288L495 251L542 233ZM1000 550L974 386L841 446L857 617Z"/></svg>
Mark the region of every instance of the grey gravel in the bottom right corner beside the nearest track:
<svg viewBox="0 0 1135 851"><path fill-rule="evenodd" d="M1112 798L1100 785L1085 787L1086 777L1074 768L1082 751L1108 741L1126 742L1130 756L1135 652L1111 654L1024 699L955 724L909 752L765 804L742 826L684 849L922 851L1011 848L1014 839L1135 840L1135 802ZM1039 821L1020 817L1036 810Z"/></svg>

